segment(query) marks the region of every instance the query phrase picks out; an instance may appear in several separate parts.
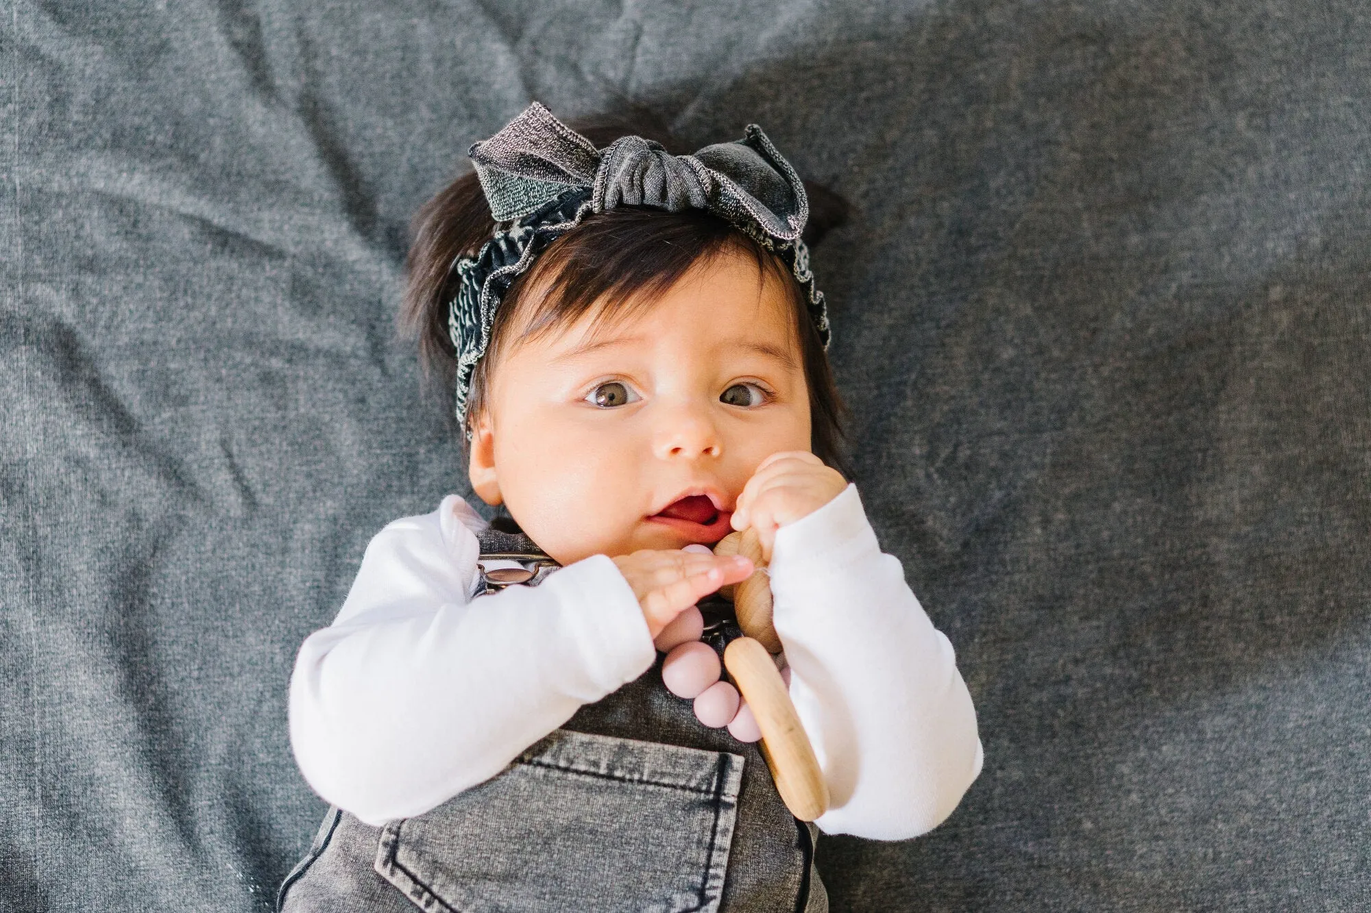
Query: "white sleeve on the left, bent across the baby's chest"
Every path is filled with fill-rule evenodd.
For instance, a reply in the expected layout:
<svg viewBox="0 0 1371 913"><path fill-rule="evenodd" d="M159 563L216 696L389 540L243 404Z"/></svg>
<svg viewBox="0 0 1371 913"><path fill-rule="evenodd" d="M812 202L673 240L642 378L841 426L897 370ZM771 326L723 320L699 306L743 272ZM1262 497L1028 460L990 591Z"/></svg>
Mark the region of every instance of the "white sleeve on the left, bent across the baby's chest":
<svg viewBox="0 0 1371 913"><path fill-rule="evenodd" d="M462 509L451 495L377 533L337 618L296 657L289 728L300 772L372 825L495 776L657 655L605 555L469 602L480 546Z"/></svg>

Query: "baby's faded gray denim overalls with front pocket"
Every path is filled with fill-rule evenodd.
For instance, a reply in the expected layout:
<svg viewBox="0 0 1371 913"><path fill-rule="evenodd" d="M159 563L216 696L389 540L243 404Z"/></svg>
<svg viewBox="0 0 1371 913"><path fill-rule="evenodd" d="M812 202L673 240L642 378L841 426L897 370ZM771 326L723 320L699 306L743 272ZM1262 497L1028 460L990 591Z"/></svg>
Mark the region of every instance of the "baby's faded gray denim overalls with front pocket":
<svg viewBox="0 0 1371 913"><path fill-rule="evenodd" d="M480 535L485 591L536 585L557 565L531 539ZM736 636L705 600L706 642ZM376 828L341 809L281 886L285 913L729 910L827 913L818 828L776 792L755 744L695 720L662 685L662 658L585 705L503 772L414 818Z"/></svg>

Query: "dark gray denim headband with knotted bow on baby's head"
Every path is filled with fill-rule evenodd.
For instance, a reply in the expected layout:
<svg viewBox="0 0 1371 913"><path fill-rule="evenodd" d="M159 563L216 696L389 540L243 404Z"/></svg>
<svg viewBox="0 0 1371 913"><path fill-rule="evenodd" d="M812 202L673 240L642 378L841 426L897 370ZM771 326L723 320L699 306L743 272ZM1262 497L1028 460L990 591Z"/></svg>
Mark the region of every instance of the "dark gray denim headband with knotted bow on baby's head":
<svg viewBox="0 0 1371 913"><path fill-rule="evenodd" d="M695 155L670 155L639 136L596 149L535 101L489 140L473 144L469 155L491 215L507 225L474 258L452 265L461 278L448 304L458 422L466 421L472 373L485 355L505 292L562 233L616 206L696 208L727 219L790 266L828 348L824 293L814 287L809 248L799 237L809 219L805 185L755 123L742 140L706 145Z"/></svg>

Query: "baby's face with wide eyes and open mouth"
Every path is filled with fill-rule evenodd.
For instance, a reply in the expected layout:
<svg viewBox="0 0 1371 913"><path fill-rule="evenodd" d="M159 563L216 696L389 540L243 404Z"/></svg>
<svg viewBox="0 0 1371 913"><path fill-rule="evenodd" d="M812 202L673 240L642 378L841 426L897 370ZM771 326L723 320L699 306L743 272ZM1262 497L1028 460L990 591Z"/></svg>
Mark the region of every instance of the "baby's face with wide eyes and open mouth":
<svg viewBox="0 0 1371 913"><path fill-rule="evenodd" d="M717 541L757 465L810 448L790 308L728 251L631 321L520 341L494 366L473 488L563 565Z"/></svg>

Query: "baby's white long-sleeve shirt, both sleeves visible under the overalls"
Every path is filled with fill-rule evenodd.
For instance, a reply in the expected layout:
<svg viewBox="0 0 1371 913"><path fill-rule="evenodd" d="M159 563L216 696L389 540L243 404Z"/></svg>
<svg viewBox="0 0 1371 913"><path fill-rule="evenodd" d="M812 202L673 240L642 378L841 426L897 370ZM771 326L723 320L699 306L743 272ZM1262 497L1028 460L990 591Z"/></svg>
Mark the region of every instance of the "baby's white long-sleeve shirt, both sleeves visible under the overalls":
<svg viewBox="0 0 1371 913"><path fill-rule="evenodd" d="M457 495L387 525L337 618L296 657L296 761L315 792L367 824L495 776L655 659L606 555L470 599L483 526ZM884 840L932 829L980 773L976 713L857 487L781 526L769 572L791 699L831 794L816 824Z"/></svg>

